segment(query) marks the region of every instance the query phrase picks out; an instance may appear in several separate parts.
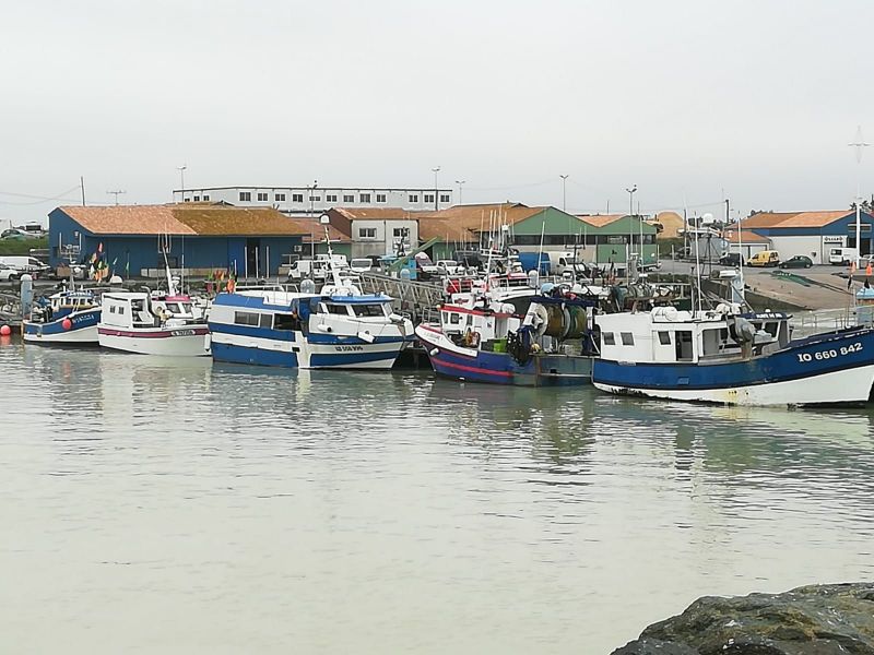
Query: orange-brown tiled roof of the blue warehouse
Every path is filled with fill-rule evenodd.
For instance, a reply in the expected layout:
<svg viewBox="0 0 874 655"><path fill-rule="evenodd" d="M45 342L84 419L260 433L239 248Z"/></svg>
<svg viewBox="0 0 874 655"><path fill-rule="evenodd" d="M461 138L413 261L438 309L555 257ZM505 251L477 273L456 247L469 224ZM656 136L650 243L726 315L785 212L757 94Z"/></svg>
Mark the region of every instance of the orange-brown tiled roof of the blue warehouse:
<svg viewBox="0 0 874 655"><path fill-rule="evenodd" d="M271 207L205 203L59 207L98 235L302 236L308 230Z"/></svg>

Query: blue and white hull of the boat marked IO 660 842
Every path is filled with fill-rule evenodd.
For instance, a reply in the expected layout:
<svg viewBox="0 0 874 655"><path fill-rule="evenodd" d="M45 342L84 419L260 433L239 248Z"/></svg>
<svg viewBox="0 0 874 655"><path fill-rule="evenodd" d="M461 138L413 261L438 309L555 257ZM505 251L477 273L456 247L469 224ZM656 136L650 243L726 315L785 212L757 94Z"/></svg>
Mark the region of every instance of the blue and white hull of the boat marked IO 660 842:
<svg viewBox="0 0 874 655"><path fill-rule="evenodd" d="M614 394L721 405L863 404L874 384L874 331L818 335L743 361L598 359L592 383Z"/></svg>

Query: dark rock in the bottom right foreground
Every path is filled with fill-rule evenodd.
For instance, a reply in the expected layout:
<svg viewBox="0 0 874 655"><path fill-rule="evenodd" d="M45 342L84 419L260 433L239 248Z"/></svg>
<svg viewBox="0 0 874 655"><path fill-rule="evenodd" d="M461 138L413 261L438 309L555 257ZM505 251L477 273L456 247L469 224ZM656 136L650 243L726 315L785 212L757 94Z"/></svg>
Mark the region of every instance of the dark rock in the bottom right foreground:
<svg viewBox="0 0 874 655"><path fill-rule="evenodd" d="M874 583L699 598L613 655L874 655Z"/></svg>

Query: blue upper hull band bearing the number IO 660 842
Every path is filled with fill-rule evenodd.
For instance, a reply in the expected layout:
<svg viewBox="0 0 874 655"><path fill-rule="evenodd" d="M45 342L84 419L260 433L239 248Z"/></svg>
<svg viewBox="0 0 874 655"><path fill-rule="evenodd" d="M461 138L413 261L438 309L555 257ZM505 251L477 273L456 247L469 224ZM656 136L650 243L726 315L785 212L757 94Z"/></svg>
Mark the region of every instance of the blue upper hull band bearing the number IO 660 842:
<svg viewBox="0 0 874 655"><path fill-rule="evenodd" d="M862 330L793 342L783 350L746 361L695 365L595 359L592 381L628 389L734 389L802 380L872 362L874 331Z"/></svg>

